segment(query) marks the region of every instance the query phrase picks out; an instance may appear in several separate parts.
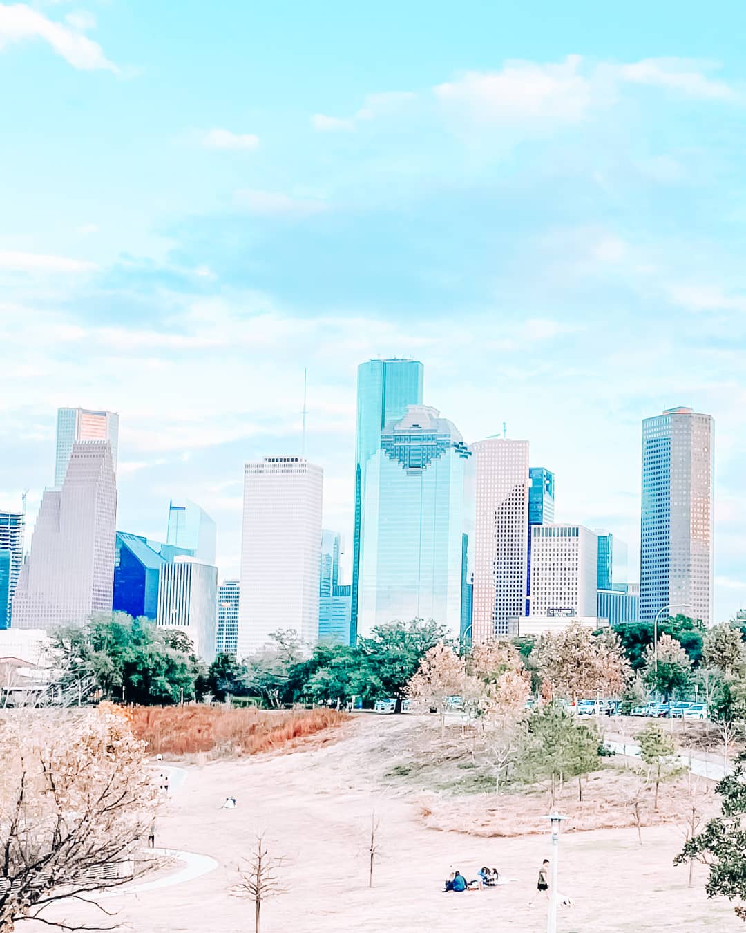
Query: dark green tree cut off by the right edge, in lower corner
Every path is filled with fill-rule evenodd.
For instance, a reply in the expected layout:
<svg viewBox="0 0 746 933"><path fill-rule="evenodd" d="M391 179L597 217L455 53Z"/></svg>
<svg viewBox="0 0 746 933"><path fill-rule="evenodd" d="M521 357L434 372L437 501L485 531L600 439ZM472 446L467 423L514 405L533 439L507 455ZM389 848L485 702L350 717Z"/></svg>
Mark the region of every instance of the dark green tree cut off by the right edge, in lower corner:
<svg viewBox="0 0 746 933"><path fill-rule="evenodd" d="M746 752L741 752L733 773L715 787L721 798L721 815L711 819L705 829L689 839L674 858L675 865L697 858L710 866L705 890L709 898L725 897L740 901L735 911L746 920Z"/></svg>

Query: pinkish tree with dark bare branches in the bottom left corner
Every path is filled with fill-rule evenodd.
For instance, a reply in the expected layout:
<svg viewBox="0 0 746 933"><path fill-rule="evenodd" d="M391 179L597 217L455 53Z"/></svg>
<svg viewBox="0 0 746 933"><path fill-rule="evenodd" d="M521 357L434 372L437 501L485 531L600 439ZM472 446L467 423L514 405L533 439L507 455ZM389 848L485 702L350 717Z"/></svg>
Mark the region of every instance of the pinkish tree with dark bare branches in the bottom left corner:
<svg viewBox="0 0 746 933"><path fill-rule="evenodd" d="M0 774L3 933L56 900L95 904L96 891L130 880L118 869L152 824L157 788L125 717L7 717Z"/></svg>

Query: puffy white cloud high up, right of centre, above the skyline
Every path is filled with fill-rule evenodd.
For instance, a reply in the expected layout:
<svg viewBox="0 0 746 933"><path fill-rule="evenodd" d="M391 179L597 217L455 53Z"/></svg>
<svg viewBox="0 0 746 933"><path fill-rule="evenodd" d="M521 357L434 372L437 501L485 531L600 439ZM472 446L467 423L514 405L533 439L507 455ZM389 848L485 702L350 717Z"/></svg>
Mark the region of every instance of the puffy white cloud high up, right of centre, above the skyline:
<svg viewBox="0 0 746 933"><path fill-rule="evenodd" d="M439 84L435 97L482 123L577 123L592 102L580 63L577 55L559 64L506 62L500 71L467 72Z"/></svg>

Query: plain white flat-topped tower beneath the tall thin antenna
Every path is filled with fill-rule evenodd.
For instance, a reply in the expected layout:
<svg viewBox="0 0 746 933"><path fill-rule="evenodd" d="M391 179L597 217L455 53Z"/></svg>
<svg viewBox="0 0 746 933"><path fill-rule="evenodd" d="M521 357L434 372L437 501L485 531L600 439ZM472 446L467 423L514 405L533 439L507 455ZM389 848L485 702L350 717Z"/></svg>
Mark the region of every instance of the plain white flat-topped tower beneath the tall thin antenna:
<svg viewBox="0 0 746 933"><path fill-rule="evenodd" d="M248 463L243 531L238 653L295 629L307 646L319 634L319 564L324 470L302 457Z"/></svg>

